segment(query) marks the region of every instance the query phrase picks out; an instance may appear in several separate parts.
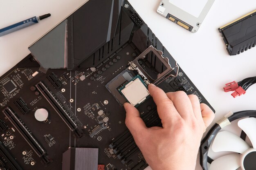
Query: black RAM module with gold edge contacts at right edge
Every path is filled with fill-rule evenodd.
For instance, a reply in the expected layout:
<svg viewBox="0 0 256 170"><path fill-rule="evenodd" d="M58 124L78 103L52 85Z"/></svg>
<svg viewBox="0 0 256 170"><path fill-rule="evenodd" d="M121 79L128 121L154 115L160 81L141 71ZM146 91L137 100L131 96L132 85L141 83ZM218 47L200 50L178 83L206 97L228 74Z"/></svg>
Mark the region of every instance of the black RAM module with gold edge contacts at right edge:
<svg viewBox="0 0 256 170"><path fill-rule="evenodd" d="M256 10L219 28L229 55L237 55L255 46Z"/></svg>

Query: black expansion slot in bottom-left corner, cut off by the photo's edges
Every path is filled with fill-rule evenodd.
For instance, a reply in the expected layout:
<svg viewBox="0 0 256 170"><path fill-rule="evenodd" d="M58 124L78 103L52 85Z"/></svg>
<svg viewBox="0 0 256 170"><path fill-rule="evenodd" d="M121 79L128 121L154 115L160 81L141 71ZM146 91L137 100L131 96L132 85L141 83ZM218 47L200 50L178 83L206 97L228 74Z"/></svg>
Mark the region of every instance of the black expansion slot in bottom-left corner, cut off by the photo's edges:
<svg viewBox="0 0 256 170"><path fill-rule="evenodd" d="M12 170L23 170L20 165L15 161L15 159L11 156L11 154L8 152L6 148L4 148L3 144L0 142L0 157L3 161L1 161L2 170L8 169L9 167ZM8 168L7 168L8 164ZM8 169L9 170L9 169Z"/></svg>

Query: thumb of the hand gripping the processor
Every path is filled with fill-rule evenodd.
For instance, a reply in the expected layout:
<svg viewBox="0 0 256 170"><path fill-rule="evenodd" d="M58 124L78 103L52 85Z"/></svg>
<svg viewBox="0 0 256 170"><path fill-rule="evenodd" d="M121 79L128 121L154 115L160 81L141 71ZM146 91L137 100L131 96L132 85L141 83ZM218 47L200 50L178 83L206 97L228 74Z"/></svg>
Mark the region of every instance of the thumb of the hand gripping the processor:
<svg viewBox="0 0 256 170"><path fill-rule="evenodd" d="M147 130L147 127L144 121L139 116L139 110L132 106L129 103L124 104L124 108L126 110L126 119L125 124L127 128L130 130L132 136L136 139L139 138L139 134L141 134L141 130Z"/></svg>

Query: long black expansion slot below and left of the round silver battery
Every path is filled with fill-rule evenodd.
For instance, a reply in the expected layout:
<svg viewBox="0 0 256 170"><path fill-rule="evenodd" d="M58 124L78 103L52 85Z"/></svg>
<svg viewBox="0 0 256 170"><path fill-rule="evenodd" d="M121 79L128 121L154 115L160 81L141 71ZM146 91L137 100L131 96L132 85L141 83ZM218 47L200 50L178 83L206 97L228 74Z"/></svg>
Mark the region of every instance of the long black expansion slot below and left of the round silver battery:
<svg viewBox="0 0 256 170"><path fill-rule="evenodd" d="M16 113L11 110L10 107L5 108L3 111L4 115L9 119L11 124L20 132L20 135L27 141L29 146L36 152L38 157L42 158L42 163L45 165L52 160L49 159L44 148L39 144L39 142L35 139L35 137L31 134L30 130L24 126L24 123L18 118Z"/></svg>

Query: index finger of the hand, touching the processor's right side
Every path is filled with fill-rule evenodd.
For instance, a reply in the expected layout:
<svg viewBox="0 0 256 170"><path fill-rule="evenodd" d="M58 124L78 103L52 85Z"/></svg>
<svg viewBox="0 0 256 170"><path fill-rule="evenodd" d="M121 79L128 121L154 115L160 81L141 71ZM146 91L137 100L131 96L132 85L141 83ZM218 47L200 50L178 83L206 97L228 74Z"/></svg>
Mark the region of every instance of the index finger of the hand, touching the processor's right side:
<svg viewBox="0 0 256 170"><path fill-rule="evenodd" d="M169 124L170 121L173 122L181 119L181 116L177 112L173 102L161 88L158 88L154 84L149 84L148 91L157 105L157 112L162 120L163 127L166 126L166 123Z"/></svg>

